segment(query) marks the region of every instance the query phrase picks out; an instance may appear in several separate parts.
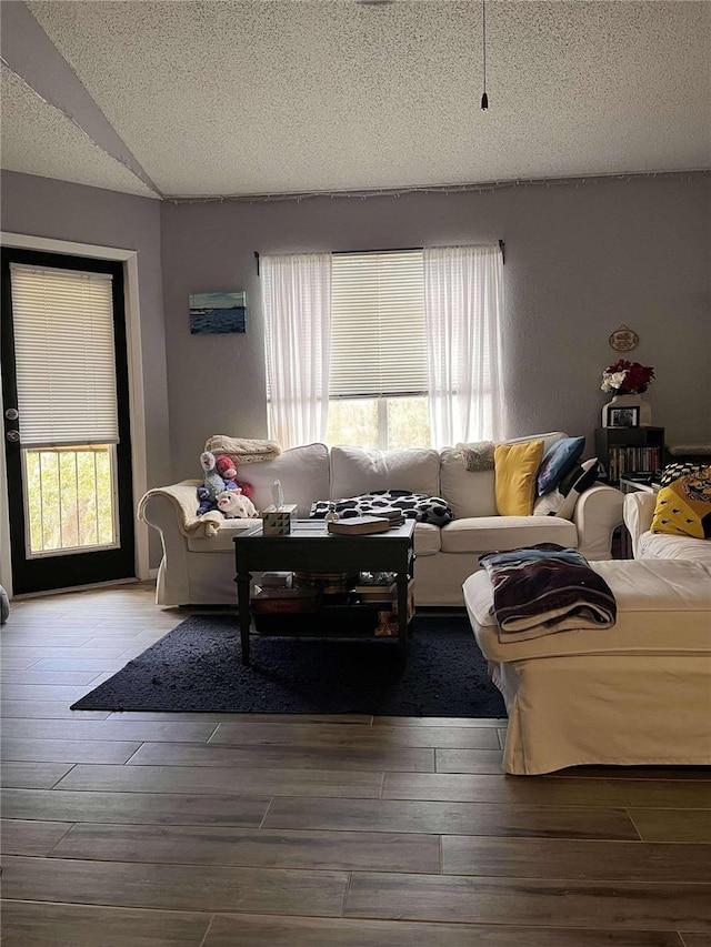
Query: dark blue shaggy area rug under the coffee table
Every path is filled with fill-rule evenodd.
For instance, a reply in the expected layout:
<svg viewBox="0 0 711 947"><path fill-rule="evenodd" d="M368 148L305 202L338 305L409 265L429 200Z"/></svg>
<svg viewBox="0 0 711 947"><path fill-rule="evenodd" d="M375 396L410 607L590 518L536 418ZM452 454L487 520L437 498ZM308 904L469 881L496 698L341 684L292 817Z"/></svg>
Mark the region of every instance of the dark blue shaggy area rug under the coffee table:
<svg viewBox="0 0 711 947"><path fill-rule="evenodd" d="M393 639L253 635L193 615L72 705L72 711L505 717L465 617L415 617L404 663Z"/></svg>

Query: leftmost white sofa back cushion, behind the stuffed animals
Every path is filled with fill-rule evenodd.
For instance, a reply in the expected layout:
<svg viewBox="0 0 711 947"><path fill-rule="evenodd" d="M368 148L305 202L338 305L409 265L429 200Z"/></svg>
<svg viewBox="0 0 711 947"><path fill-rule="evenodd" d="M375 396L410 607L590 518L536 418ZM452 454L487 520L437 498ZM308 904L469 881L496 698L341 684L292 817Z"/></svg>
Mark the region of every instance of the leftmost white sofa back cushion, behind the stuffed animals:
<svg viewBox="0 0 711 947"><path fill-rule="evenodd" d="M251 483L252 503L260 512L271 504L271 488L279 480L284 503L296 503L299 518L307 520L312 502L329 495L329 449L326 444L291 447L273 461L246 464L237 473Z"/></svg>

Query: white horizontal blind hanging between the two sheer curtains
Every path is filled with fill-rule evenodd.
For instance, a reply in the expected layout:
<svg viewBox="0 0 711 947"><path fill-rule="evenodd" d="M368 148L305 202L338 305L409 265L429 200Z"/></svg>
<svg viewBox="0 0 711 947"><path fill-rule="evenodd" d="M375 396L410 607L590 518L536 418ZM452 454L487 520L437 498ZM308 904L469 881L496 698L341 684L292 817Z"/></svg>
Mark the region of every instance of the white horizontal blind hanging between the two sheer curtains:
<svg viewBox="0 0 711 947"><path fill-rule="evenodd" d="M427 392L421 250L334 253L330 397Z"/></svg>

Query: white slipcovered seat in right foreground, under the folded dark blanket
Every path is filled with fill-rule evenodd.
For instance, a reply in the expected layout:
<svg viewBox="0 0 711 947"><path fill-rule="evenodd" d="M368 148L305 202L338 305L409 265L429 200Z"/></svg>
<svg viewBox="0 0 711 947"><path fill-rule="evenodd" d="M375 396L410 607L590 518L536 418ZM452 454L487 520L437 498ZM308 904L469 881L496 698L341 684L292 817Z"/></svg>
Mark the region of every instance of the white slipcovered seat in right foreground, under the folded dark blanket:
<svg viewBox="0 0 711 947"><path fill-rule="evenodd" d="M503 768L708 766L711 565L644 558L592 568L614 595L614 626L528 641L501 633L487 575L464 583L474 636L509 715Z"/></svg>

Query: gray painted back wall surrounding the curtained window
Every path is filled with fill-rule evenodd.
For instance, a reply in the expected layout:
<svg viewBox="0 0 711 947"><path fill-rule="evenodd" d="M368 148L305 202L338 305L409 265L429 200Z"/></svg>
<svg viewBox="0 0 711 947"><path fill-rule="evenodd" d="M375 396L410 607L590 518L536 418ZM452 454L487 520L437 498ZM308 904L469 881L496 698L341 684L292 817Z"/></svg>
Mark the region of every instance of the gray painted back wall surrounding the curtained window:
<svg viewBox="0 0 711 947"><path fill-rule="evenodd" d="M584 434L622 323L653 365L668 444L711 440L711 179L535 184L361 200L162 204L162 272L176 477L198 476L210 434L267 436L254 251L368 250L505 241L509 436ZM188 294L244 290L246 335L191 336Z"/></svg>

